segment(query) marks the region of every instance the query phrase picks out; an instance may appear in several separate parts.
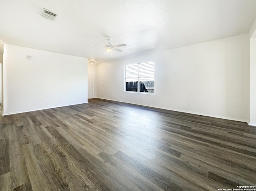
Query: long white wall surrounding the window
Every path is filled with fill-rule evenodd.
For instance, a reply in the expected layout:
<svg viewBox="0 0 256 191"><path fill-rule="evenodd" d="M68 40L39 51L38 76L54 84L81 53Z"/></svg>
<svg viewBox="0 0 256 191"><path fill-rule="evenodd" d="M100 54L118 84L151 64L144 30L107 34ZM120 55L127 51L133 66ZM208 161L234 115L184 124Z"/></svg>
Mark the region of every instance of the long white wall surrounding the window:
<svg viewBox="0 0 256 191"><path fill-rule="evenodd" d="M97 97L248 122L249 49L244 34L98 64ZM124 92L124 66L145 61L155 61L155 94Z"/></svg>

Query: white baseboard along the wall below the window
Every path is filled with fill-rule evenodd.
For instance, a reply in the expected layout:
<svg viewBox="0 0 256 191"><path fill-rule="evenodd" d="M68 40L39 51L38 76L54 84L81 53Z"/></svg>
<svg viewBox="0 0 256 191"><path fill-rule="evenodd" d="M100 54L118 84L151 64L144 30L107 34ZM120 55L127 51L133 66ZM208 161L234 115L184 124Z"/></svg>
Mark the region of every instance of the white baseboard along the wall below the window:
<svg viewBox="0 0 256 191"><path fill-rule="evenodd" d="M214 118L227 119L227 120L232 120L232 121L240 121L240 122L248 123L248 121L244 120L244 119L231 118L231 117L226 117L226 116L218 116L218 115L205 114L205 113L192 112L192 111L179 110L179 109L172 109L172 108L165 108L165 107L158 107L158 106L152 106L152 105L147 105L147 104L136 104L136 103L132 103L132 102L124 102L124 101L120 101L120 100L112 100L112 99L106 99L106 98L100 98L100 97L98 97L98 98L110 100L110 101L117 101L117 102L141 105L141 106L146 106L146 107L159 108L159 109L165 109L165 110L170 110L170 111L178 111L178 112L183 112L183 113L196 114L196 115L202 115L202 116L207 116L207 117L214 117ZM255 126L256 126L256 124L255 124Z"/></svg>

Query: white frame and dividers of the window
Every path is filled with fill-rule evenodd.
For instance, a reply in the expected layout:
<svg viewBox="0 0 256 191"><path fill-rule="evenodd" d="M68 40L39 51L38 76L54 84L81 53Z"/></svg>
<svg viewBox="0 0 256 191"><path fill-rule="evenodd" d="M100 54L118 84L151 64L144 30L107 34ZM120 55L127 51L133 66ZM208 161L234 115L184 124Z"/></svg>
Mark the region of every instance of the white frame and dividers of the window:
<svg viewBox="0 0 256 191"><path fill-rule="evenodd" d="M150 77L150 78L140 78L140 67L139 65L140 64L145 64L145 63L154 63L154 77ZM137 83L137 91L126 91L126 66L127 65L138 65L138 77L136 78L138 83ZM135 79L135 78L134 78ZM140 79L153 79L153 82L154 82L154 92L151 93L151 92L140 92ZM155 90L156 90L156 87L155 87L155 62L154 61L147 61L147 62L139 62L139 63L133 63L133 64L126 64L124 65L124 92L125 93L137 93L137 94L146 94L146 95L154 95L155 94Z"/></svg>

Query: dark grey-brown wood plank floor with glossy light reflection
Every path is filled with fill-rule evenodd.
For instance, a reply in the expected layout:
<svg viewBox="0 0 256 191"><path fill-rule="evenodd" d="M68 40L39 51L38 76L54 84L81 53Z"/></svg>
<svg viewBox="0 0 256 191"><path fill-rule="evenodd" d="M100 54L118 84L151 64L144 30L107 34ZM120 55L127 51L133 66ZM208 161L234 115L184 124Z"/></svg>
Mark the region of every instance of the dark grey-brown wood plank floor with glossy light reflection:
<svg viewBox="0 0 256 191"><path fill-rule="evenodd" d="M0 116L1 191L247 185L256 185L256 128L244 122L101 99Z"/></svg>

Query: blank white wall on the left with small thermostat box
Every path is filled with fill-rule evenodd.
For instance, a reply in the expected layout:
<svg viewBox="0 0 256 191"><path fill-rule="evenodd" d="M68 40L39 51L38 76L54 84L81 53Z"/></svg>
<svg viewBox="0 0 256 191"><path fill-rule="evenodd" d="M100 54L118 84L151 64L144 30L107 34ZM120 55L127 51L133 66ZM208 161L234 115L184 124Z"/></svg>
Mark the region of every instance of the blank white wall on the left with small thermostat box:
<svg viewBox="0 0 256 191"><path fill-rule="evenodd" d="M86 103L87 61L5 44L3 115Z"/></svg>

